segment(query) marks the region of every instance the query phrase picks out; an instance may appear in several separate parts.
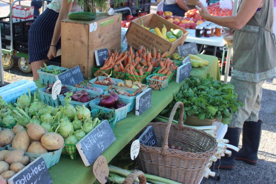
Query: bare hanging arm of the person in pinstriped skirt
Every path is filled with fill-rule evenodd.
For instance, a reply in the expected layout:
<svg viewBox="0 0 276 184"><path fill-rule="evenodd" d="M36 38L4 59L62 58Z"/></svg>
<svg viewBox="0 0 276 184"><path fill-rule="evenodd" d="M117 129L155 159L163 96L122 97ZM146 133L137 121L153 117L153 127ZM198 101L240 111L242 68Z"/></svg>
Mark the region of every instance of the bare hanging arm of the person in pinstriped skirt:
<svg viewBox="0 0 276 184"><path fill-rule="evenodd" d="M53 33L53 37L52 37L52 41L51 41L51 45L54 45L54 46L50 46L49 52L47 54L47 57L49 59L56 57L56 47L55 46L61 36L61 20L66 19L68 17L68 14L70 13L71 8L72 8L72 4L73 4L72 1L67 3L67 0L62 0L62 2L61 2L59 16L56 20L56 25L55 25L55 29L54 29L54 33Z"/></svg>

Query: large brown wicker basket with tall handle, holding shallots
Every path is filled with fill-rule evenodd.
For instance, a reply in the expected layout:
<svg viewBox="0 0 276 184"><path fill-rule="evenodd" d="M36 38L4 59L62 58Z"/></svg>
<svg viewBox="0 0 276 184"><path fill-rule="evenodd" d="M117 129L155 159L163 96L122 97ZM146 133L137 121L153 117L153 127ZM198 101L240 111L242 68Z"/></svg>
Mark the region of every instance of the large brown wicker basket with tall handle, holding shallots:
<svg viewBox="0 0 276 184"><path fill-rule="evenodd" d="M179 105L181 114L178 125L174 125L172 120ZM184 127L183 113L183 103L177 102L168 123L151 122L136 136L137 139L148 126L152 126L157 139L156 147L140 144L137 161L144 173L180 183L198 184L210 157L217 151L217 142L201 130ZM170 149L168 142L183 149Z"/></svg>

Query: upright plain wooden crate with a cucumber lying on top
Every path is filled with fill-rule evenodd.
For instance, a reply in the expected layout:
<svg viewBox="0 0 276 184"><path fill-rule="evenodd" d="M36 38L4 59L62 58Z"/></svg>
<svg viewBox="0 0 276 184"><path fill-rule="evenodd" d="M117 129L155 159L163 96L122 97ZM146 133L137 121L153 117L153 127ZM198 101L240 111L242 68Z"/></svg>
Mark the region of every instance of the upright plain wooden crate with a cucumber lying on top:
<svg viewBox="0 0 276 184"><path fill-rule="evenodd" d="M65 19L61 23L61 66L80 66L84 79L91 79L96 65L94 50L121 48L120 13L97 15L94 21Z"/></svg>

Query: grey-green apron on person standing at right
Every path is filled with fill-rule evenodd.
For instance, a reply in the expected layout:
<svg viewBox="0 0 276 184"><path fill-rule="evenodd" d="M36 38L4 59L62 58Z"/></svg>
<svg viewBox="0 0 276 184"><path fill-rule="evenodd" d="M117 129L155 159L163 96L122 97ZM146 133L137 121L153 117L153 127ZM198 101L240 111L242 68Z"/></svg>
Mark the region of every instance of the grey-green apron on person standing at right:
<svg viewBox="0 0 276 184"><path fill-rule="evenodd" d="M273 3L273 0L264 0L262 9L257 11L242 29L235 31L231 71L233 78L261 82L275 76Z"/></svg>

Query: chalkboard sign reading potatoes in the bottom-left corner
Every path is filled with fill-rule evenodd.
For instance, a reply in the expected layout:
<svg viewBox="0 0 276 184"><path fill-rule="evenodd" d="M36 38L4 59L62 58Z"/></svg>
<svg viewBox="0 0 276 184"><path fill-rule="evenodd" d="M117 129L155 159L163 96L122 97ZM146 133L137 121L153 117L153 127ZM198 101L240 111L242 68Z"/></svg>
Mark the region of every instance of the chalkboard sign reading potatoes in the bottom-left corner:
<svg viewBox="0 0 276 184"><path fill-rule="evenodd" d="M29 163L8 180L9 184L50 184L52 178L42 157Z"/></svg>

